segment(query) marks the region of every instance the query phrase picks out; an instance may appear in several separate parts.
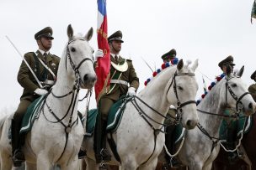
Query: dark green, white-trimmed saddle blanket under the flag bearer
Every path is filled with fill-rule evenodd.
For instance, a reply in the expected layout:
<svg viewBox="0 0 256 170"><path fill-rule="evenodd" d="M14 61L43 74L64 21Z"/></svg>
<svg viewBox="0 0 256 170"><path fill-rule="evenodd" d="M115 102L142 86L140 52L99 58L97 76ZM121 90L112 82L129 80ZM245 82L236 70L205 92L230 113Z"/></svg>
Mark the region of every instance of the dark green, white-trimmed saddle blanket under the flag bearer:
<svg viewBox="0 0 256 170"><path fill-rule="evenodd" d="M116 131L117 127L120 125L120 120L122 119L126 103L126 98L121 98L120 100L116 101L113 106L111 106L108 115L107 131ZM88 111L87 128L85 136L93 136L93 131L98 114L98 109L92 109Z"/></svg>

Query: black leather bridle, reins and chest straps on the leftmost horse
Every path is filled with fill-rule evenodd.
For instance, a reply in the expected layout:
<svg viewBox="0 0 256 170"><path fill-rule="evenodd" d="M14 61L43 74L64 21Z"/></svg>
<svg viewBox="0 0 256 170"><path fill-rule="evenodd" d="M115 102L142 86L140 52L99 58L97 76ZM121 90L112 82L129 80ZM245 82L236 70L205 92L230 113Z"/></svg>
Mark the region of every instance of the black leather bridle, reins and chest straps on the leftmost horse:
<svg viewBox="0 0 256 170"><path fill-rule="evenodd" d="M75 123L78 123L78 116L77 116L77 120L76 120L76 121L73 121L73 122L72 122L72 116L73 116L74 108L75 108L76 102L77 102L77 95L78 95L78 92L79 92L79 90L80 90L80 82L82 81L82 80L81 80L81 76L80 76L80 72L79 72L79 68L80 68L81 65L82 65L85 61L87 61L87 60L89 60L89 61L91 61L91 62L93 63L93 59L90 59L90 58L88 58L88 57L85 57L84 59L82 59L82 61L79 62L79 64L77 64L77 65L74 64L74 62L72 61L72 57L71 57L71 54L70 54L70 50L69 50L69 48L68 48L68 45L71 44L72 42L76 41L76 40L87 41L87 39L71 39L71 40L67 43L67 47L66 47L66 49L67 49L67 54L66 54L66 70L67 70L67 59L69 59L69 62L70 62L70 64L71 64L71 66L72 66L72 70L74 70L74 72L75 72L75 77L76 77L75 84L73 85L72 90L69 91L69 92L67 92L67 94L65 94L65 95L55 95L55 94L53 93L52 89L51 89L51 95L53 95L55 98L58 98L58 99L64 98L64 97L66 97L66 96L72 94L72 100L71 100L70 105L68 106L68 109L67 109L66 114L65 114L63 117L61 117L61 118L59 118L58 116L56 116L56 114L54 113L54 111L51 110L51 107L50 107L50 106L47 104L47 102L46 102L46 98L48 97L49 94L45 97L44 103L43 103L43 105L42 105L42 107L41 107L41 110L42 110L42 113L43 113L44 116L45 116L45 112L44 112L43 106L45 105L45 106L47 107L48 111L50 111L51 115L56 118L56 121L50 121L50 120L45 116L45 120L46 120L46 121L49 121L49 122L51 122L51 123L59 123L59 122L60 122L61 125L65 127L66 142L65 142L65 147L64 147L64 149L63 149L63 152L61 153L61 157L62 157L62 155L63 155L63 153L64 153L64 151L65 151L65 149L66 149L66 147L67 147L67 138L68 138L68 134L69 134L70 131L72 131L72 126L74 126ZM88 93L91 93L91 90L88 90ZM87 95L87 96L88 96L88 95ZM67 115L68 115L68 113L69 113L70 110L71 110L71 114L70 114L70 116L69 116L69 121L68 121L68 124L67 124L67 126L66 126L66 125L62 122L62 120L67 117ZM60 160L61 157L59 157L58 160Z"/></svg>

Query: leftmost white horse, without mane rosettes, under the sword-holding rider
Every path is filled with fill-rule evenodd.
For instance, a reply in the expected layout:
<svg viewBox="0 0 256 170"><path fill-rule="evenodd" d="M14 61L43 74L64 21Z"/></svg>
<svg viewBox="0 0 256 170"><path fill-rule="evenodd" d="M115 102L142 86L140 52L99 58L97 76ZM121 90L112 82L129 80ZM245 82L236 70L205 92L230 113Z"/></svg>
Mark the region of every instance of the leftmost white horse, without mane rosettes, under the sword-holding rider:
<svg viewBox="0 0 256 170"><path fill-rule="evenodd" d="M45 170L61 165L62 170L77 167L77 153L83 142L84 129L77 116L77 95L80 87L92 88L96 81L93 70L93 49L88 41L93 28L83 36L73 35L67 27L68 43L63 51L56 84L43 102L40 115L26 135L23 146L26 169ZM9 115L3 124L0 139L1 169L12 168L12 152L8 130Z"/></svg>

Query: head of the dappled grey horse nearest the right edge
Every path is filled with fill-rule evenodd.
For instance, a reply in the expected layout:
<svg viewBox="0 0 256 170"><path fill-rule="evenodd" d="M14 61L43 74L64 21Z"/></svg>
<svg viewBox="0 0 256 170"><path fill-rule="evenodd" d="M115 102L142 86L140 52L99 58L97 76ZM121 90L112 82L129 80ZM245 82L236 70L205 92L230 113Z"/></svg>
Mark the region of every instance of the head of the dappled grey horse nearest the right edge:
<svg viewBox="0 0 256 170"><path fill-rule="evenodd" d="M249 116L255 112L256 103L241 79L243 70L244 66L237 73L225 76L226 82L222 85L225 87L221 88L221 101L225 107L234 108L237 112L243 111L243 114Z"/></svg>

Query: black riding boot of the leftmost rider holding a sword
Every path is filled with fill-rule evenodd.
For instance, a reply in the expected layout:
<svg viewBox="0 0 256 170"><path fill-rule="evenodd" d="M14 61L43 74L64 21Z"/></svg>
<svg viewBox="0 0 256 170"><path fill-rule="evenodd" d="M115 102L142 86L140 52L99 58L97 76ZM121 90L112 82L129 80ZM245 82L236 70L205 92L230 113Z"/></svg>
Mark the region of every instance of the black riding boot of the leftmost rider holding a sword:
<svg viewBox="0 0 256 170"><path fill-rule="evenodd" d="M19 122L12 120L13 167L20 167L25 161L21 151L22 142L24 143L24 135L19 136Z"/></svg>

